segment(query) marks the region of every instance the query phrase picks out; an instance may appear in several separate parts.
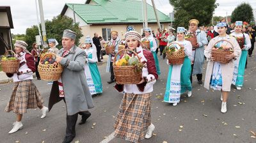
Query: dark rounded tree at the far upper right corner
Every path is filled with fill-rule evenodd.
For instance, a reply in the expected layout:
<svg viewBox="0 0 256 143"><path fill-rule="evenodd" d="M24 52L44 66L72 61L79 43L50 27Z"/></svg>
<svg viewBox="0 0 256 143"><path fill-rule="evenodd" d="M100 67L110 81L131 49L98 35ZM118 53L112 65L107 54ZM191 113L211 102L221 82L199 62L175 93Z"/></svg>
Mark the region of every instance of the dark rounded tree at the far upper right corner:
<svg viewBox="0 0 256 143"><path fill-rule="evenodd" d="M253 21L253 10L252 6L248 3L239 4L234 11L232 11L231 22L236 21Z"/></svg>

